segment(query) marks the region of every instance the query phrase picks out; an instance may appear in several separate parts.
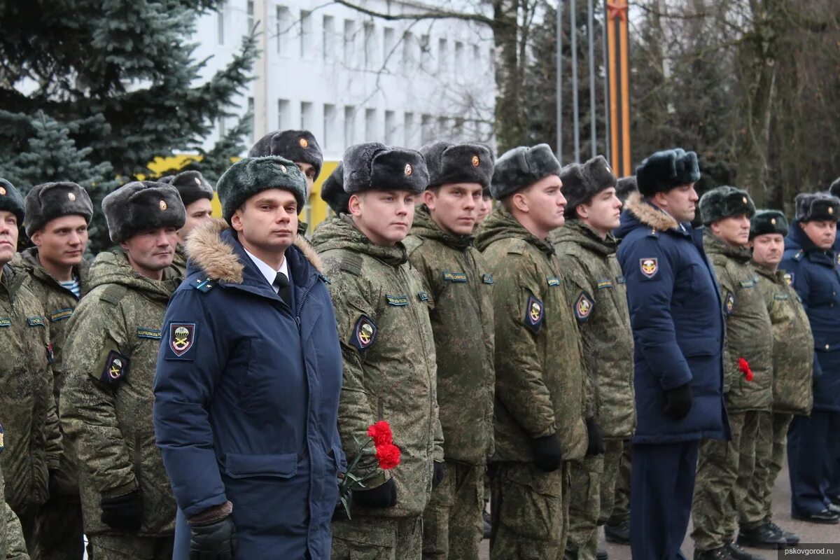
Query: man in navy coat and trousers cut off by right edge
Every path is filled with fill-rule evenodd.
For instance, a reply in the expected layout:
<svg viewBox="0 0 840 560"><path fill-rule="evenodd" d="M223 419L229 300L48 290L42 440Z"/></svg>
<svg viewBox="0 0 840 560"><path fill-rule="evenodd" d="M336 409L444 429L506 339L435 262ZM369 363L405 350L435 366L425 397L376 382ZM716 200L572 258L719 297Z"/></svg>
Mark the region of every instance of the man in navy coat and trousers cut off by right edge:
<svg viewBox="0 0 840 560"><path fill-rule="evenodd" d="M802 299L814 333L814 408L788 432L791 514L815 523L840 522L830 494L840 458L840 254L835 253L840 200L796 196L796 219L780 269Z"/></svg>

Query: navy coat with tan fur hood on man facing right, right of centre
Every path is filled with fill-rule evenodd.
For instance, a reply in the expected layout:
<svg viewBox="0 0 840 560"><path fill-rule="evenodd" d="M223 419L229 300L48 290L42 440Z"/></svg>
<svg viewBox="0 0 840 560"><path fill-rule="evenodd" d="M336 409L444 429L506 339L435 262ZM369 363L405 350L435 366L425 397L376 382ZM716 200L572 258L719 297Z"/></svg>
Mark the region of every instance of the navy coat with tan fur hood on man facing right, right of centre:
<svg viewBox="0 0 840 560"><path fill-rule="evenodd" d="M726 439L723 404L723 308L701 230L634 195L619 228L618 261L627 281L635 342L638 424L633 442ZM691 411L680 421L663 412L666 390L691 384Z"/></svg>

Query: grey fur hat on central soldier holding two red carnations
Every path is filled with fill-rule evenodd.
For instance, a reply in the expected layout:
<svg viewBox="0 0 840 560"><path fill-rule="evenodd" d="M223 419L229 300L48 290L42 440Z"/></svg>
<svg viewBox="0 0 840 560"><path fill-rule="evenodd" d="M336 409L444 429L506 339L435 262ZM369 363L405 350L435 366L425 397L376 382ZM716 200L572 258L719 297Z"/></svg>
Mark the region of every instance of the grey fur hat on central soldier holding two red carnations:
<svg viewBox="0 0 840 560"><path fill-rule="evenodd" d="M420 194L428 187L423 155L413 149L388 148L368 142L344 152L344 192L408 191Z"/></svg>

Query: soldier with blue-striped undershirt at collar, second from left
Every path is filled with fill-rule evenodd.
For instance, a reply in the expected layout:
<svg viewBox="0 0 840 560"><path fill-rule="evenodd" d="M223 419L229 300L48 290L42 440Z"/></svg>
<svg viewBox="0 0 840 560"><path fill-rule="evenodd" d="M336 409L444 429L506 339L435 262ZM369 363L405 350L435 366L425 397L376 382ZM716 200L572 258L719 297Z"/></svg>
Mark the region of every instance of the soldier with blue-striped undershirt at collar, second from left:
<svg viewBox="0 0 840 560"><path fill-rule="evenodd" d="M87 292L88 264L83 255L93 206L87 191L71 182L34 186L25 203L26 234L35 246L15 255L12 266L29 278L29 289L50 322L53 393L58 406L64 386L61 349L66 326ZM62 442L60 468L50 471L50 500L35 521L33 557L39 560L80 560L84 550L76 453L69 439Z"/></svg>

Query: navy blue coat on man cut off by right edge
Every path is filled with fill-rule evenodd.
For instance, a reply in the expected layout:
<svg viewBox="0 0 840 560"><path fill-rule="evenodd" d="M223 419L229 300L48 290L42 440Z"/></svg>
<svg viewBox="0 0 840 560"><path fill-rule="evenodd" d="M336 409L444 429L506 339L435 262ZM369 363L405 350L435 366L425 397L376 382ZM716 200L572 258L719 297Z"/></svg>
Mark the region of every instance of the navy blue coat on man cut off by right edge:
<svg viewBox="0 0 840 560"><path fill-rule="evenodd" d="M795 220L779 265L814 333L814 410L840 411L840 253L816 247Z"/></svg>

